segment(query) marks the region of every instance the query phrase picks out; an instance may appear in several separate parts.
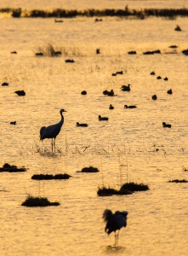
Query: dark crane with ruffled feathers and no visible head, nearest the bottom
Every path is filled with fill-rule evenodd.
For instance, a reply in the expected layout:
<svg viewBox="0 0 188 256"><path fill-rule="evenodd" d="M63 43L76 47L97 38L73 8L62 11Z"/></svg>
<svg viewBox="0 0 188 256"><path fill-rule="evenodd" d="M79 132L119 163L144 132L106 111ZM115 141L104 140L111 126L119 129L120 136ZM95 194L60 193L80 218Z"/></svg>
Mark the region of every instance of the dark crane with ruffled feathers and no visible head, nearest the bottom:
<svg viewBox="0 0 188 256"><path fill-rule="evenodd" d="M111 232L115 232L115 246L118 242L118 236L119 236L119 230L122 229L122 227L127 226L127 211L122 212L115 212L112 213L111 210L105 209L103 212L103 218L105 220L105 232L110 235Z"/></svg>

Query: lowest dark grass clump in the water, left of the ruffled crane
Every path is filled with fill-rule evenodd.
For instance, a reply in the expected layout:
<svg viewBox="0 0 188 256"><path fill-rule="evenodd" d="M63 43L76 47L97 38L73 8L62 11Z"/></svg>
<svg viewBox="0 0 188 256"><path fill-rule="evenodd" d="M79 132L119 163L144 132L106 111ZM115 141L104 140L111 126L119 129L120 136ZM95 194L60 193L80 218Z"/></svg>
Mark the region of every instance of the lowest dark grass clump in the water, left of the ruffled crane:
<svg viewBox="0 0 188 256"><path fill-rule="evenodd" d="M48 198L46 197L34 197L31 195L28 195L26 198L26 201L24 201L22 204L24 207L50 207L50 206L59 206L59 202L50 202L48 201Z"/></svg>

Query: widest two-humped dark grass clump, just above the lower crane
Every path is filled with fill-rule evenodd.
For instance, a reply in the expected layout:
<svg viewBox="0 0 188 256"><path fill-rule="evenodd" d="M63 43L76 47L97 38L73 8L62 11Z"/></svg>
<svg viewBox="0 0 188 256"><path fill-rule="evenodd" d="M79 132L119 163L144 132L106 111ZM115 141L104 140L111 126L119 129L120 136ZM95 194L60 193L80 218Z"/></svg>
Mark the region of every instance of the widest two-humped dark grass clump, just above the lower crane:
<svg viewBox="0 0 188 256"><path fill-rule="evenodd" d="M100 196L108 196L108 195L131 195L137 191L145 191L148 190L148 185L143 183L124 183L120 189L111 189L103 186L99 188L97 191L97 195Z"/></svg>

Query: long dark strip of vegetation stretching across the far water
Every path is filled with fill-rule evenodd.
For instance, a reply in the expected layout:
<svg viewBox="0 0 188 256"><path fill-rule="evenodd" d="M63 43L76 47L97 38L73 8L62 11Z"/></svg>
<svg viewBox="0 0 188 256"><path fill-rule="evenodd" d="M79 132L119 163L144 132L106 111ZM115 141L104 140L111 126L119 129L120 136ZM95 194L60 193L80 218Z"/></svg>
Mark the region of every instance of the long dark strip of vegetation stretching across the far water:
<svg viewBox="0 0 188 256"><path fill-rule="evenodd" d="M86 17L102 17L102 16L118 16L118 17L135 17L143 20L146 17L166 17L168 19L174 19L177 16L187 17L188 9L129 9L128 6L125 9L14 9L14 8L2 8L0 13L10 13L14 18L75 18L77 16ZM100 18L95 18L95 21L102 21ZM180 31L180 30L176 30Z"/></svg>

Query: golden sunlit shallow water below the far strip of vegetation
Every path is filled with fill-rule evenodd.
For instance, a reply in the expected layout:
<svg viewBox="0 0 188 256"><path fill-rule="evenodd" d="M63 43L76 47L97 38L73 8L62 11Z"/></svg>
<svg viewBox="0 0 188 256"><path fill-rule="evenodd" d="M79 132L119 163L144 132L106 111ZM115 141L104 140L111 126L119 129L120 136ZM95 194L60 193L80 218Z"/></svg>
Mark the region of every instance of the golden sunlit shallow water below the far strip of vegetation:
<svg viewBox="0 0 188 256"><path fill-rule="evenodd" d="M177 24L182 32L174 31ZM0 35L0 78L9 82L0 88L1 166L28 168L1 173L1 255L186 255L187 184L167 182L187 179L188 173L183 170L188 166L187 56L181 53L187 49L187 19L95 23L79 18L57 24L54 19L3 18ZM69 55L36 57L48 43ZM172 44L179 47L176 54L168 48ZM162 55L142 54L153 49ZM18 54L10 54L13 50ZM75 63L67 64L67 58ZM123 75L112 77L117 71ZM121 85L128 83L131 91L122 92ZM170 88L173 95L167 94ZM105 89L117 96L103 96ZM15 90L26 90L26 97ZM124 104L138 108L124 109ZM60 108L67 110L65 124L51 154L50 141L40 142L39 130L60 120ZM109 121L99 122L99 114ZM13 120L17 125L9 125ZM77 121L88 128L76 127ZM163 121L172 128L164 129ZM84 166L100 172L77 173ZM35 173L64 172L72 177L31 180ZM150 190L97 196L99 186L118 188L126 181L147 183ZM60 207L21 207L28 194L60 201ZM112 247L113 235L105 235L105 208L128 211L118 247Z"/></svg>

